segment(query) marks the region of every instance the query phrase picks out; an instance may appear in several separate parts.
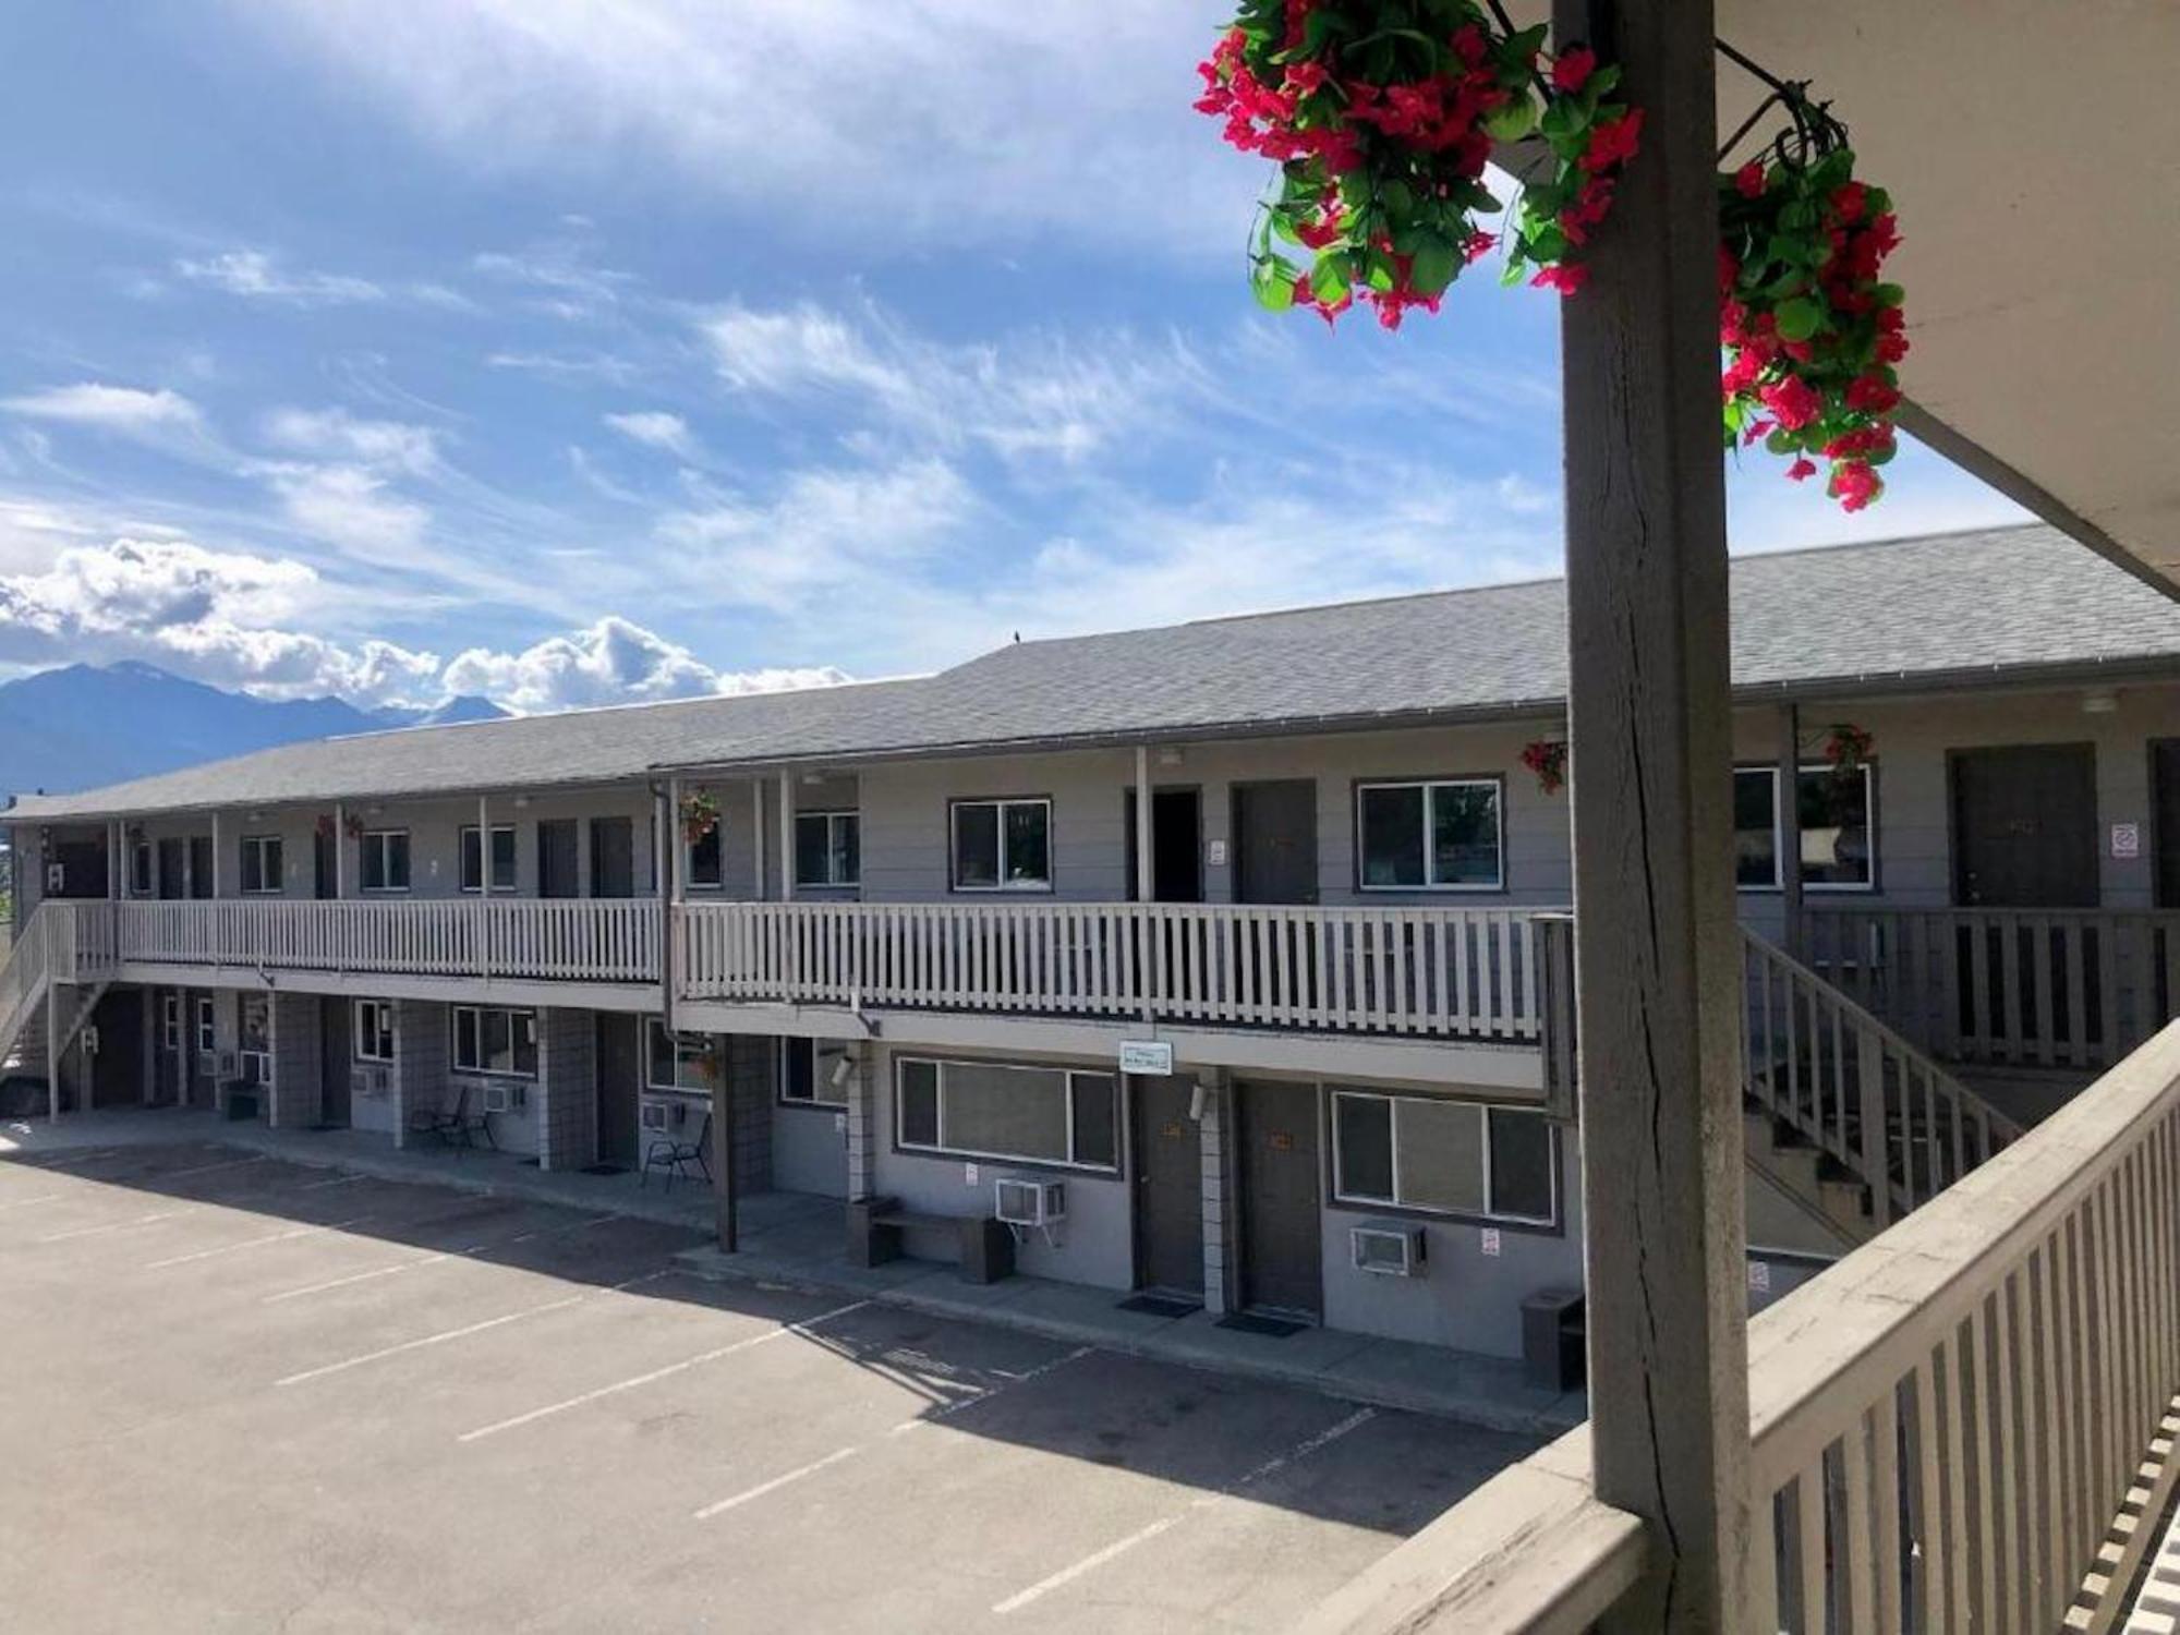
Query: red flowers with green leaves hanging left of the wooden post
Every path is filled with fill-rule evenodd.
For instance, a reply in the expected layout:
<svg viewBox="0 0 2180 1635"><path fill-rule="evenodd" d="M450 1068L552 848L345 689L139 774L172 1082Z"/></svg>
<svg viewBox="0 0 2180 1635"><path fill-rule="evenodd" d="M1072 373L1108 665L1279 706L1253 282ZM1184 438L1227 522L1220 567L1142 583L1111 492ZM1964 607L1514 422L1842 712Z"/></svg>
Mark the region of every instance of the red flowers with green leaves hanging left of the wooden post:
<svg viewBox="0 0 2180 1635"><path fill-rule="evenodd" d="M1539 76L1543 37L1474 0L1413 0L1402 13L1380 0L1243 0L1197 68L1197 109L1280 166L1249 246L1258 301L1325 323L1362 301L1386 329L1410 307L1437 312L1498 242L1482 229L1500 209L1482 181L1491 144L1533 131L1557 164L1524 194L1506 277L1578 290L1574 251L1611 209L1642 111L1585 48Z"/></svg>

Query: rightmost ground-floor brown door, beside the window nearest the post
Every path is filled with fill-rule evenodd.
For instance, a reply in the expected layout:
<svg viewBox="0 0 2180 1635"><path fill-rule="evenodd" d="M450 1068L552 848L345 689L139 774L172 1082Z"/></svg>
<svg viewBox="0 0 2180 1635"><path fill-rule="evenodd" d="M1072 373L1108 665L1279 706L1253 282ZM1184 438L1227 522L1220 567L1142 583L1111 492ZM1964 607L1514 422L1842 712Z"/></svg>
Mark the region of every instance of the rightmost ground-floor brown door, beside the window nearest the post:
<svg viewBox="0 0 2180 1635"><path fill-rule="evenodd" d="M1240 1125L1240 1304L1317 1317L1323 1247L1317 1212L1317 1088L1245 1083Z"/></svg>

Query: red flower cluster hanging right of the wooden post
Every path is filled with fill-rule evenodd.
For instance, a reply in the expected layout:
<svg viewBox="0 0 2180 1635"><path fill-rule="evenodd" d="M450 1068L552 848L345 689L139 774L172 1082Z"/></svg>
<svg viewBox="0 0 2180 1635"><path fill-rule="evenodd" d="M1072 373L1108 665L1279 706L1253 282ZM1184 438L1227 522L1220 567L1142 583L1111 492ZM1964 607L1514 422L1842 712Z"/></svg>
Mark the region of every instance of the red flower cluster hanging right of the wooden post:
<svg viewBox="0 0 2180 1635"><path fill-rule="evenodd" d="M1881 283L1899 227L1855 155L1746 164L1720 177L1720 342L1727 447L1764 440L1807 482L1829 462L1844 510L1884 495L1894 453L1894 364L1908 355L1901 290Z"/></svg>

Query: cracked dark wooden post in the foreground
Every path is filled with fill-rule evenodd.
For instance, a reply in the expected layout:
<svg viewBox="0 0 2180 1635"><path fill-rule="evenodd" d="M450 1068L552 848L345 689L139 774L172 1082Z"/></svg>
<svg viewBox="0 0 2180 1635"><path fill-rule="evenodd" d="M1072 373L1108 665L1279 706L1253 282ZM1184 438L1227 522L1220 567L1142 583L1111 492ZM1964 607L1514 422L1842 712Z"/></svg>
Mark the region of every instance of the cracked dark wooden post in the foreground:
<svg viewBox="0 0 2180 1635"><path fill-rule="evenodd" d="M1650 1522L1607 1631L1737 1626L1748 1336L1711 4L1557 0L1642 157L1563 307L1589 1428Z"/></svg>

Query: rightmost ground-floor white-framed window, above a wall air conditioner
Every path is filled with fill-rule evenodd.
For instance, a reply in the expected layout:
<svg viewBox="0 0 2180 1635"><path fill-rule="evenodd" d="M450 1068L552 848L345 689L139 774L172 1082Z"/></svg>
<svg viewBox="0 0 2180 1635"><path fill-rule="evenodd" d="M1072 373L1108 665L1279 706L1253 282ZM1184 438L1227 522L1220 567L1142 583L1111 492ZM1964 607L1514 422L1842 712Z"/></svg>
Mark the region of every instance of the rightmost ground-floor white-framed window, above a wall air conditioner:
<svg viewBox="0 0 2180 1635"><path fill-rule="evenodd" d="M1334 1090L1332 1192L1343 1203L1554 1225L1552 1125L1528 1107Z"/></svg>

